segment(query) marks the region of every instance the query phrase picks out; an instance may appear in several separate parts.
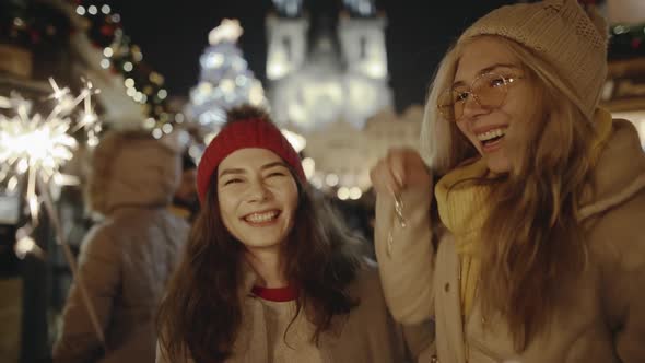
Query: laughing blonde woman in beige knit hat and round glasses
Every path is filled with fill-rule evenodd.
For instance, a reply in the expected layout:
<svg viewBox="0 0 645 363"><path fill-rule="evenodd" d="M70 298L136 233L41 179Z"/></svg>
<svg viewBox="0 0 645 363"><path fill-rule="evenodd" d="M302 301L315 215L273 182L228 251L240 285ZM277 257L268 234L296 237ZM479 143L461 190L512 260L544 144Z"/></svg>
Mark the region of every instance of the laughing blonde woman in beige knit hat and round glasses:
<svg viewBox="0 0 645 363"><path fill-rule="evenodd" d="M500 8L447 52L422 155L372 171L386 301L435 360L645 362L645 155L598 108L602 19Z"/></svg>

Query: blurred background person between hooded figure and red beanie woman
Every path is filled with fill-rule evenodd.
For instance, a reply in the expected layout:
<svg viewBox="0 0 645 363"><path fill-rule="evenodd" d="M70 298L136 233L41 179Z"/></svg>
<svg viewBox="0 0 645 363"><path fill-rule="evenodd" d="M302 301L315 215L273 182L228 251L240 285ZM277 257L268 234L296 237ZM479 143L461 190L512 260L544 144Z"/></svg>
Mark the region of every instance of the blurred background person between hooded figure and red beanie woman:
<svg viewBox="0 0 645 363"><path fill-rule="evenodd" d="M195 221L199 212L197 165L188 152L181 154L181 178L173 196L171 211L188 222Z"/></svg>

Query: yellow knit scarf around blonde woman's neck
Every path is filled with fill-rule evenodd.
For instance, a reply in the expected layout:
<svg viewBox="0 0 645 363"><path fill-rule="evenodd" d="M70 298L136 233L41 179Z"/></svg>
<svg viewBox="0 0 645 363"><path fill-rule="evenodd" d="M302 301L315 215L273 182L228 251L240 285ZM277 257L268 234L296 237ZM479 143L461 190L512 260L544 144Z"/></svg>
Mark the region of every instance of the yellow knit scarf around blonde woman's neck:
<svg viewBox="0 0 645 363"><path fill-rule="evenodd" d="M605 109L597 109L594 124L597 136L591 147L591 160L595 162L611 136L611 114ZM479 280L478 249L481 248L481 229L490 212L486 203L490 185L480 185L473 180L488 176L490 172L486 163L480 159L448 173L435 186L439 218L455 236L460 259L459 280L464 316L468 316L472 309Z"/></svg>

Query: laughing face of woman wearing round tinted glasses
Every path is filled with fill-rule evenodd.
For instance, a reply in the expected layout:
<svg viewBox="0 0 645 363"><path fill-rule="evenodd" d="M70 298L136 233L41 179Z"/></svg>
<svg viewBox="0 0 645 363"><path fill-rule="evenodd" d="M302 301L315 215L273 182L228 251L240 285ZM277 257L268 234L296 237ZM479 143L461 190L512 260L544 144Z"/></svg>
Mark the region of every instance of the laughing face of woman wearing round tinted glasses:
<svg viewBox="0 0 645 363"><path fill-rule="evenodd" d="M494 74L494 77L491 77ZM500 78L501 75L502 78ZM505 85L501 80L512 80ZM485 87L505 87L505 96L494 106L477 102L472 95L464 98L464 113L457 127L477 148L489 169L504 173L511 169L509 155L514 152L507 142L508 129L523 127L538 107L530 80L524 74L519 60L511 49L494 37L480 37L464 46L457 63L453 89L470 91L483 98ZM483 86L484 90L478 90ZM511 133L513 134L513 133Z"/></svg>

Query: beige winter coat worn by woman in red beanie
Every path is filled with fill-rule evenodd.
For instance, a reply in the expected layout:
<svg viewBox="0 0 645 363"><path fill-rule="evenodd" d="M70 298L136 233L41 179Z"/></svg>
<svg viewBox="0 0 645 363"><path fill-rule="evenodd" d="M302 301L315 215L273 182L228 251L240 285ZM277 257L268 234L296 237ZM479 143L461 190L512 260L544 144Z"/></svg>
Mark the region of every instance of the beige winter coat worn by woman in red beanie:
<svg viewBox="0 0 645 363"><path fill-rule="evenodd" d="M247 279L250 291L255 279ZM347 316L332 319L333 331L320 335L319 351L325 363L399 363L424 361L420 355L433 340L427 321L401 328L390 317L383 297L378 273L365 269L350 286L360 305ZM243 324L234 343L234 355L226 363L269 363L267 320L259 297L248 295L243 307ZM427 360L427 359L425 359ZM157 350L156 363L171 363ZM187 362L172 363L194 363ZM273 362L280 363L280 362ZM303 362L304 363L304 362Z"/></svg>

